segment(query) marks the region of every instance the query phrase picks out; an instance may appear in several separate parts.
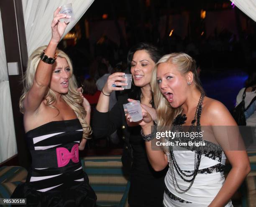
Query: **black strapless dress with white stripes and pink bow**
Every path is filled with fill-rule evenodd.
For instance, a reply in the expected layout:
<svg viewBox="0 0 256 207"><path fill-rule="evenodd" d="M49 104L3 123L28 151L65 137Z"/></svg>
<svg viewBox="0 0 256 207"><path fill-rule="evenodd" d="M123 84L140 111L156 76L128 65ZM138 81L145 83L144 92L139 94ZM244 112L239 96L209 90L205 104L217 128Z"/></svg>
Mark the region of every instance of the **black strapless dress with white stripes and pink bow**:
<svg viewBox="0 0 256 207"><path fill-rule="evenodd" d="M26 198L33 207L94 207L96 195L78 156L82 134L78 119L51 121L28 131L31 170L11 198Z"/></svg>

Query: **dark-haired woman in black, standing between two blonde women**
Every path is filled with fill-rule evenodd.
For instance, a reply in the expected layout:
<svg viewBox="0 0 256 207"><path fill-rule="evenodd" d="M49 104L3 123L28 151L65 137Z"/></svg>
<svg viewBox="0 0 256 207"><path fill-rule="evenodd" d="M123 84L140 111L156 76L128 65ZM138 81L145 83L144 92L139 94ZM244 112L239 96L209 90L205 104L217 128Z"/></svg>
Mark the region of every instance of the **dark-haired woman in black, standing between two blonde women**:
<svg viewBox="0 0 256 207"><path fill-rule="evenodd" d="M119 97L115 106L108 111L110 93L121 91L125 79L124 73L113 73L102 88L94 116L92 129L97 138L112 134L122 128L125 142L122 162L125 170L130 169L131 187L128 196L130 207L161 207L164 195L164 176L167 169L155 172L148 162L145 143L141 138L141 127L134 122L127 122L123 104L128 98L141 101L147 109L154 107L151 93L151 71L155 63L161 58L161 52L153 45L138 43L128 52L128 66L133 76L133 86L130 93Z"/></svg>

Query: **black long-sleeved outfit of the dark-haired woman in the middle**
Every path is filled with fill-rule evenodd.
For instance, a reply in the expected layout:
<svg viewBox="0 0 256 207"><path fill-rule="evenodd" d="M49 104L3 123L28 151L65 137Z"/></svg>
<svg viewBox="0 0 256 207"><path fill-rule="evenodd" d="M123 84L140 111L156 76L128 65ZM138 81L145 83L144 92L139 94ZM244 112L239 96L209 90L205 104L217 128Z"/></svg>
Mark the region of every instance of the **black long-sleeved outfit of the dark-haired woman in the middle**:
<svg viewBox="0 0 256 207"><path fill-rule="evenodd" d="M97 138L109 136L116 129L123 130L122 139L125 141L122 162L125 169L131 166L131 187L128 202L140 207L161 207L164 195L164 177L167 167L161 172L152 169L148 162L145 143L141 137L141 126L130 127L126 123L123 104L128 103L128 96L120 96L111 111L102 113L95 110L92 130ZM131 153L131 156L129 154Z"/></svg>

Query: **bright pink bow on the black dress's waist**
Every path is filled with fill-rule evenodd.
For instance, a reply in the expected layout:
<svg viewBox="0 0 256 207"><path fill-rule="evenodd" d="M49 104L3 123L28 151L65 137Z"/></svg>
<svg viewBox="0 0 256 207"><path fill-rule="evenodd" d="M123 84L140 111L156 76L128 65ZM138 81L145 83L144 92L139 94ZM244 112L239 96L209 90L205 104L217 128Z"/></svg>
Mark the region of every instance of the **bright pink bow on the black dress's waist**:
<svg viewBox="0 0 256 207"><path fill-rule="evenodd" d="M70 159L75 163L79 162L78 151L78 144L72 147L71 152L64 147L56 148L58 167L64 167L69 163Z"/></svg>

